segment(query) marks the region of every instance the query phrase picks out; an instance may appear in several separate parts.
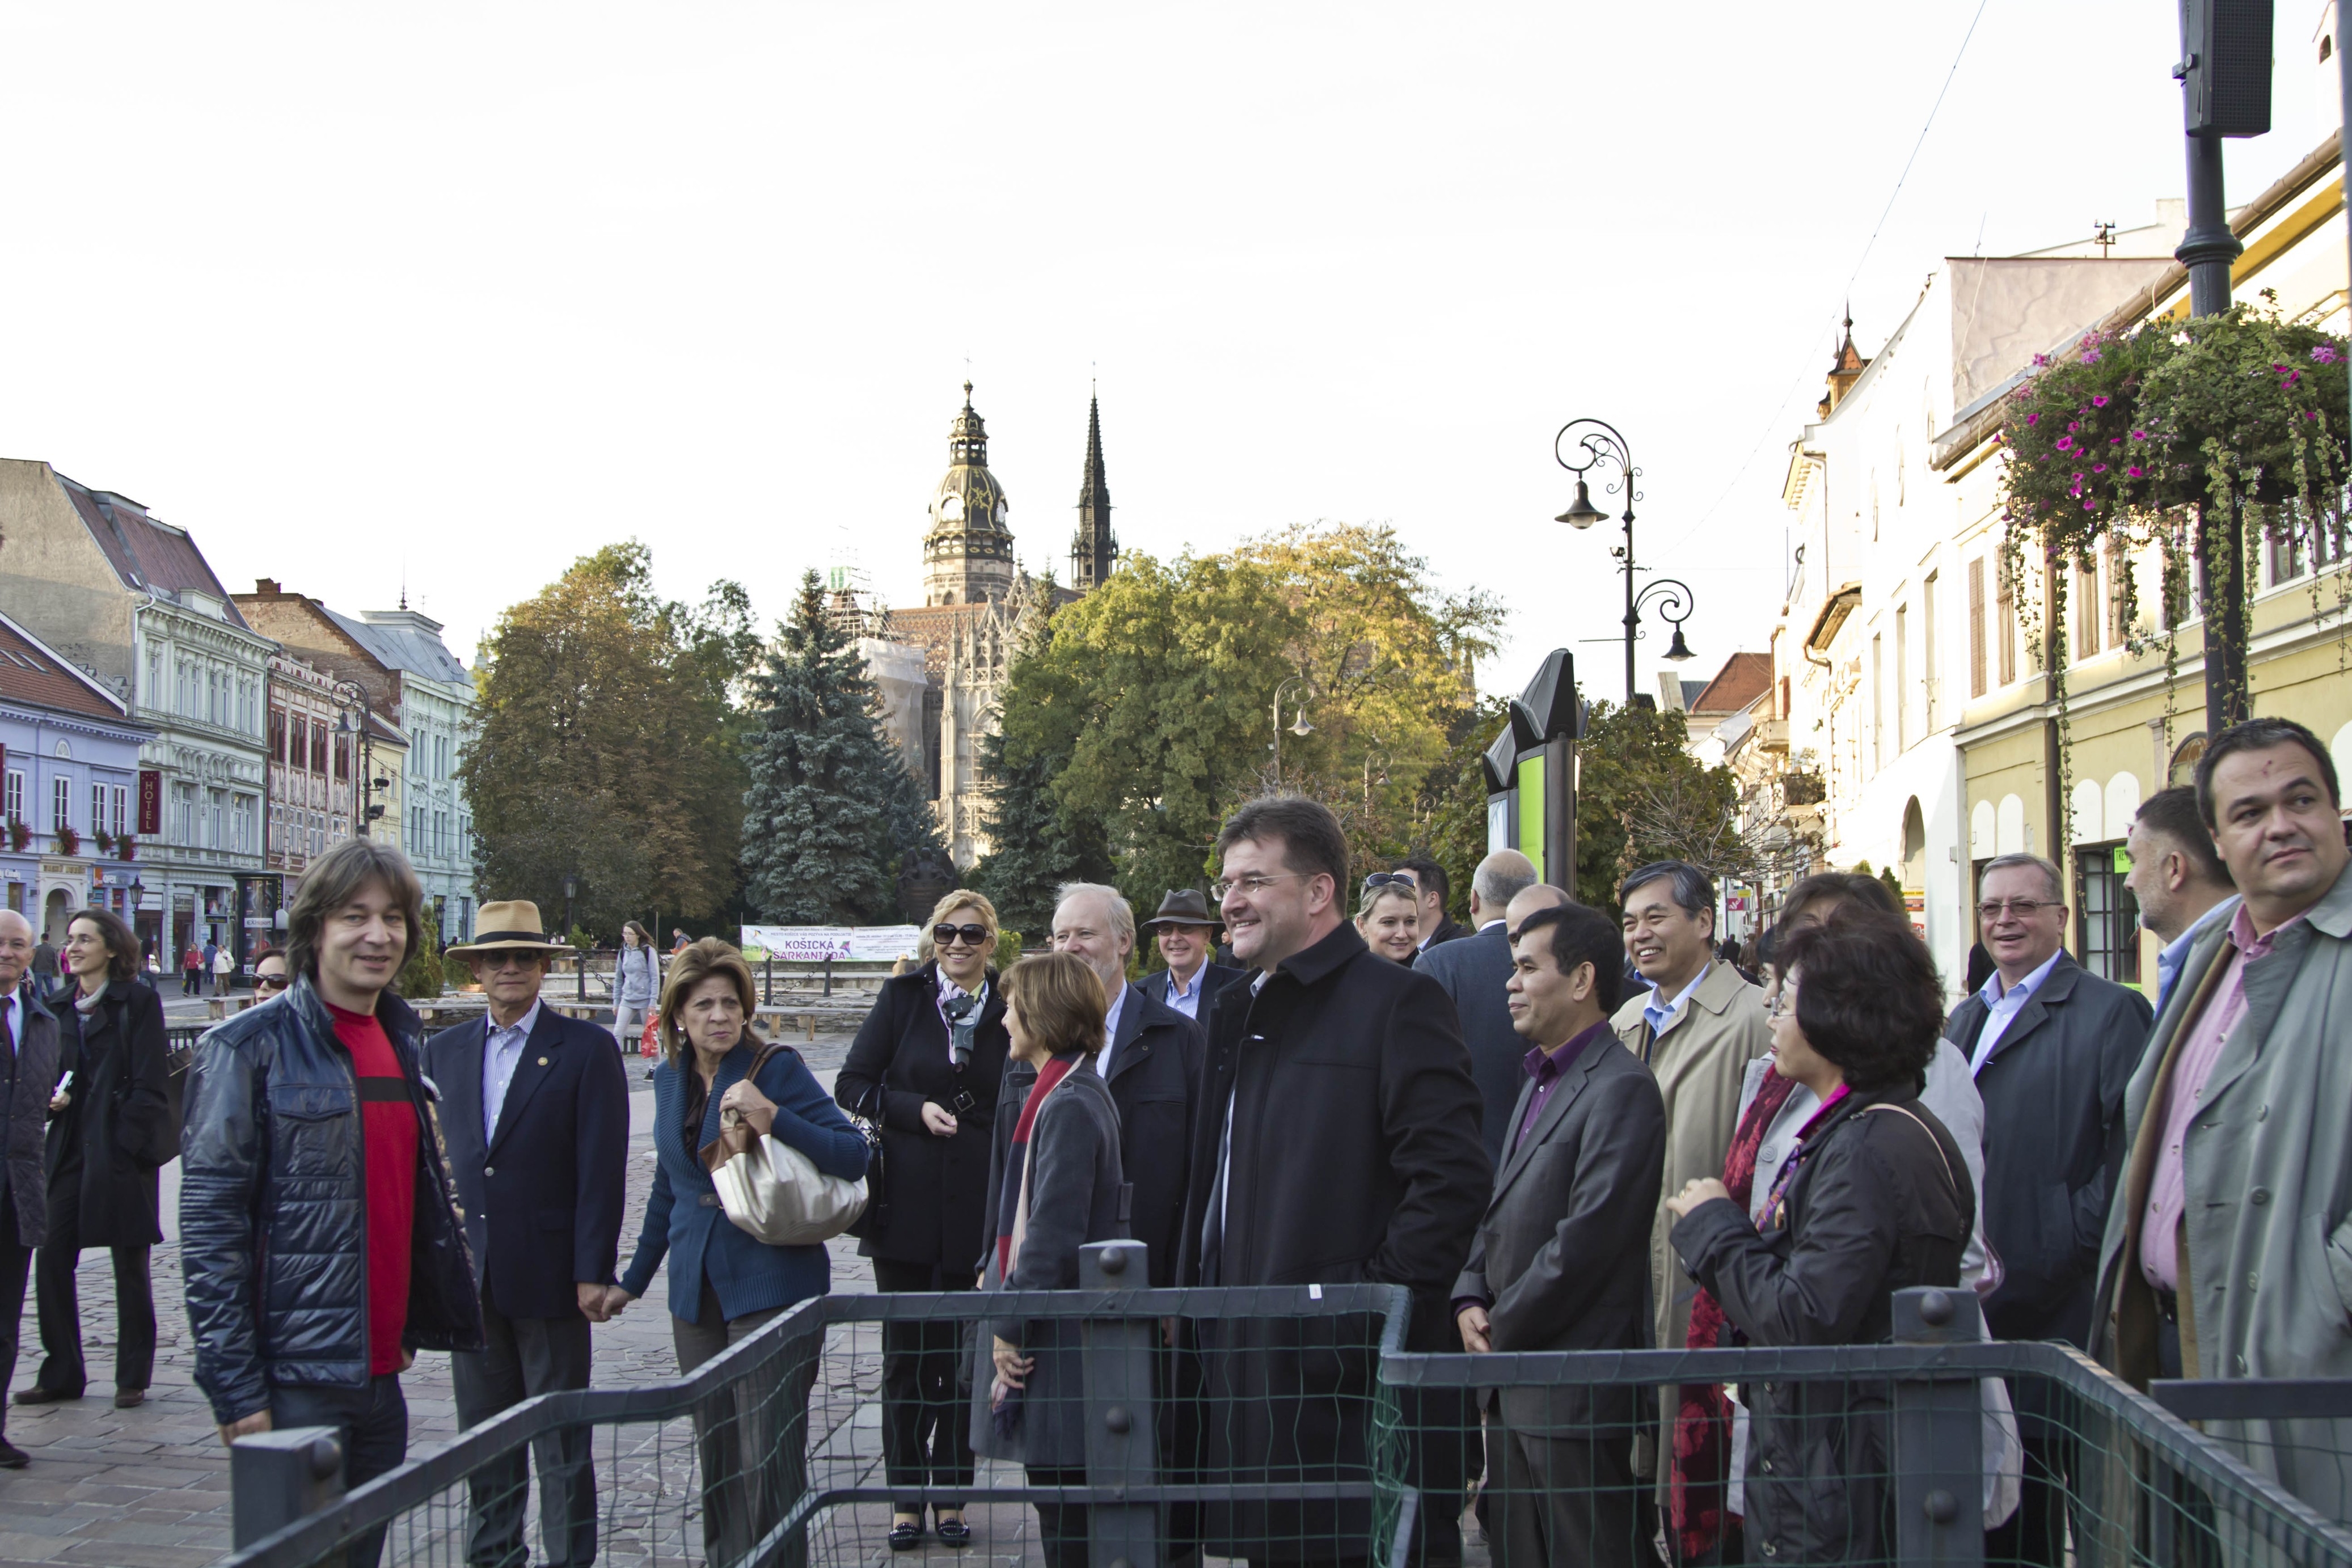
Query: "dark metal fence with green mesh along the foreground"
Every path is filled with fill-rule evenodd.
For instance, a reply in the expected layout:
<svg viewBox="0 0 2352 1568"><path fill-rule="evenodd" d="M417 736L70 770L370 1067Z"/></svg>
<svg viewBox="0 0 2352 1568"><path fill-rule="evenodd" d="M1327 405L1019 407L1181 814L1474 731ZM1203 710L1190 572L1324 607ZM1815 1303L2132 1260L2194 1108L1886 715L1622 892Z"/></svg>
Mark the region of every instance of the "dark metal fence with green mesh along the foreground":
<svg viewBox="0 0 2352 1568"><path fill-rule="evenodd" d="M1893 1345L1463 1356L1402 1349L1399 1288L1129 1288L1141 1274L1138 1246L1101 1244L1077 1291L802 1302L675 1382L534 1399L341 1497L315 1434L240 1443L228 1561L360 1568L376 1540L393 1563L560 1561L548 1540L593 1519L604 1563L873 1563L894 1502L920 1500L962 1505L990 1561L1406 1568L1458 1519L1494 1563L1649 1568L1693 1509L1630 1472L1635 1439L1661 1436L1663 1389L1729 1387L1743 1448L1717 1481L1743 1488L1748 1561L1973 1568L1999 1378L2063 1436L2058 1561L2352 1568L2352 1535L2270 1474L2065 1347L1983 1342L1962 1293L1903 1293ZM1028 1359L1004 1408L1000 1331ZM884 1349L920 1375L884 1387ZM1788 1458L1799 1474L1776 1474ZM567 1523L581 1479L593 1502Z"/></svg>

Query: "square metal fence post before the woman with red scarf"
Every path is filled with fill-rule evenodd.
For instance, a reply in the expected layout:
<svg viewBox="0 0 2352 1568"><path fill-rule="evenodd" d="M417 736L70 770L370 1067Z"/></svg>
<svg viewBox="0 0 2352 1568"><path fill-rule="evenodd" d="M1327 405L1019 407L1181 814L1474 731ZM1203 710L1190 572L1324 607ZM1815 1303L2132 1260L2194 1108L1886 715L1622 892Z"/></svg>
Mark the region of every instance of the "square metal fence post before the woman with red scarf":
<svg viewBox="0 0 2352 1568"><path fill-rule="evenodd" d="M1150 1248L1096 1241L1077 1248L1080 1291L1145 1291ZM1087 1486L1152 1486L1160 1474L1160 1427L1152 1413L1152 1319L1108 1316L1080 1324L1087 1387ZM1160 1568L1160 1505L1096 1502L1089 1509L1089 1561L1110 1568Z"/></svg>

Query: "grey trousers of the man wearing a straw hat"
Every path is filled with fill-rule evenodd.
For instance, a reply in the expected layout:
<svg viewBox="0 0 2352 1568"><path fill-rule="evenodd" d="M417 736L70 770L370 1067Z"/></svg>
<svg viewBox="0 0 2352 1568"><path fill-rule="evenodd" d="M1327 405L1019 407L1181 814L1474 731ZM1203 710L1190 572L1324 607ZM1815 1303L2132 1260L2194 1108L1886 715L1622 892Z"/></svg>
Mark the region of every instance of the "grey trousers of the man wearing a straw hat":
<svg viewBox="0 0 2352 1568"><path fill-rule="evenodd" d="M449 1359L459 1427L477 1427L534 1394L588 1387L588 1319L506 1316L482 1293L485 1349ZM548 1568L588 1568L595 1561L595 1469L588 1427L532 1439L539 1460L539 1542ZM470 1568L524 1568L522 1505L532 1476L522 1450L477 1469L466 1488L473 1521L466 1537Z"/></svg>

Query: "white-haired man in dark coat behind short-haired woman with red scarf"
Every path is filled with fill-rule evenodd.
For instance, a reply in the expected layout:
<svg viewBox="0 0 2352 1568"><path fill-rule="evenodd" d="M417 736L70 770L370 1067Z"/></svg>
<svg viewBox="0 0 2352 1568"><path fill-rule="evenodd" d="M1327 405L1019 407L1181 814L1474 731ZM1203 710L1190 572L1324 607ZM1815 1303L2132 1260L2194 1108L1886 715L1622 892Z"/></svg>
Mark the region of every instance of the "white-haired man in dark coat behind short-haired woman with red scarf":
<svg viewBox="0 0 2352 1568"><path fill-rule="evenodd" d="M1127 983L1134 922L1136 912L1120 889L1065 882L1054 903L1054 952L1082 959L1108 997L1103 1046L1089 1060L1110 1084L1120 1114L1120 1168L1134 1187L1127 1234L1150 1248L1152 1286L1164 1288L1176 1281L1185 1175L1192 1168L1192 1084L1200 1081L1204 1037L1197 1023Z"/></svg>

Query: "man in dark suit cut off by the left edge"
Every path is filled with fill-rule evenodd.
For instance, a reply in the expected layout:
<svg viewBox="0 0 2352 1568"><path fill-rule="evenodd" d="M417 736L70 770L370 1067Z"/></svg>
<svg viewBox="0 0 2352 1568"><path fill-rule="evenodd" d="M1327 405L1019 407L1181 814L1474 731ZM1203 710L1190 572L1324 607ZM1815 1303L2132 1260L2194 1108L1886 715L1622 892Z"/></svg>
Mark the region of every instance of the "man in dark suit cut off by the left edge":
<svg viewBox="0 0 2352 1568"><path fill-rule="evenodd" d="M42 1145L49 1117L71 1105L71 1088L64 1103L49 1098L64 1048L56 1016L26 978L33 952L33 924L16 910L0 910L0 1389L16 1378L24 1281L33 1269L33 1248L49 1234ZM0 1469L31 1462L24 1448L7 1441L0 1420Z"/></svg>

